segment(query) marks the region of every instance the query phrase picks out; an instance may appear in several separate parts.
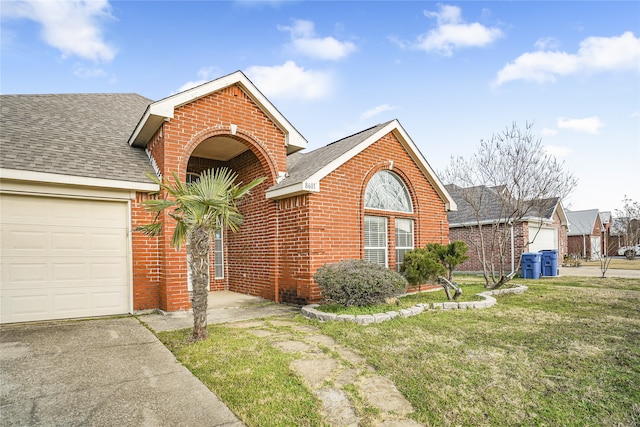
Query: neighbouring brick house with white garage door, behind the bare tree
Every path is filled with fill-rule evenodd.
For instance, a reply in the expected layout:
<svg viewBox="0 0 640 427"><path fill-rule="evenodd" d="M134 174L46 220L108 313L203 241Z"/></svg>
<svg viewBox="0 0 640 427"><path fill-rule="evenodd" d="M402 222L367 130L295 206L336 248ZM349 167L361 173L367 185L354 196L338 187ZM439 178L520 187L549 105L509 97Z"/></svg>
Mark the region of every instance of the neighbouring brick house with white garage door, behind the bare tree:
<svg viewBox="0 0 640 427"><path fill-rule="evenodd" d="M531 214L510 227L502 213L502 196L504 187L478 186L464 189L452 184L446 186L458 207L457 211L447 214L449 220L449 238L451 241L462 240L469 246L469 259L457 267L459 271L482 271L482 264L477 253L480 247L480 230L485 241L486 254L490 255L492 227L498 225L500 231L508 233L506 257L507 268L514 271L518 268L520 257L524 252L538 252L544 249L557 250L559 259L567 253L567 216L558 198L537 201ZM476 209L463 197L463 191L476 198L479 203ZM469 198L467 198L469 200ZM481 227L478 227L478 223ZM497 250L495 251L497 253ZM492 261L498 262L497 258ZM508 271L510 272L510 271Z"/></svg>

